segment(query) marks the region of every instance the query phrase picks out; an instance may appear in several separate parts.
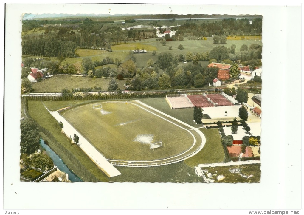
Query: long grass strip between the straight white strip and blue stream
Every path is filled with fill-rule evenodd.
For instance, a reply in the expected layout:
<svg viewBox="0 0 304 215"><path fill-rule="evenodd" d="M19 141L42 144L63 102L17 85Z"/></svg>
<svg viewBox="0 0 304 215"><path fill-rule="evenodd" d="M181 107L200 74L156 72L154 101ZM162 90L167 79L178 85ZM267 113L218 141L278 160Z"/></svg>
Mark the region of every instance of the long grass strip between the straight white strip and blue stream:
<svg viewBox="0 0 304 215"><path fill-rule="evenodd" d="M65 148L71 151L76 158L86 167L86 169L91 172L100 181L108 181L108 177L95 165L95 163L75 144L71 145L67 136L62 133L59 129L56 129L55 124L58 122L54 117L47 111L43 106L42 102L39 101L29 101L29 114L36 120L41 126L49 130L56 140L62 144ZM39 113L39 114L37 114ZM79 178L83 181L88 181L87 176L82 173L82 171L74 165L74 163L67 158L64 154L61 154L57 148L52 148L55 153L57 153L60 158L64 161L67 167L75 172Z"/></svg>

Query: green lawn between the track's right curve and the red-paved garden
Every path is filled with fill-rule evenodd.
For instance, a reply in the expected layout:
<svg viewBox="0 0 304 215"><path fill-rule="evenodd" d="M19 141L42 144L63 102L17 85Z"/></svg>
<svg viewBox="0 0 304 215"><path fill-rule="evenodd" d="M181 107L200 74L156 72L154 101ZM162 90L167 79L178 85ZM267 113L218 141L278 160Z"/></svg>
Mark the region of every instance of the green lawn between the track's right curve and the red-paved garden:
<svg viewBox="0 0 304 215"><path fill-rule="evenodd" d="M219 130L217 128L201 128L199 130L205 135L206 144L199 153L185 160L185 164L194 167L199 164L225 162L225 153Z"/></svg>

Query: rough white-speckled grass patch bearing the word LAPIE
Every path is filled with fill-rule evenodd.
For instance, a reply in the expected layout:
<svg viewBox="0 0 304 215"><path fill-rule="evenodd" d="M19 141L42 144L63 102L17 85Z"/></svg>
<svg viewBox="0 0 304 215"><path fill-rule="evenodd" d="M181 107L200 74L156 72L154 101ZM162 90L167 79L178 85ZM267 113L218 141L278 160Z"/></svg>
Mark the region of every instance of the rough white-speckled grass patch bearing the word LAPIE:
<svg viewBox="0 0 304 215"><path fill-rule="evenodd" d="M207 167L207 168L202 168L202 170L207 170L209 173L211 173L212 176L210 177L210 179L215 179L215 182L255 183L255 182L259 182L261 179L260 168L261 168L260 164L250 164L250 165L238 165L238 166ZM233 172L233 169L240 169L240 172ZM224 178L218 180L217 179L218 175L223 175Z"/></svg>

